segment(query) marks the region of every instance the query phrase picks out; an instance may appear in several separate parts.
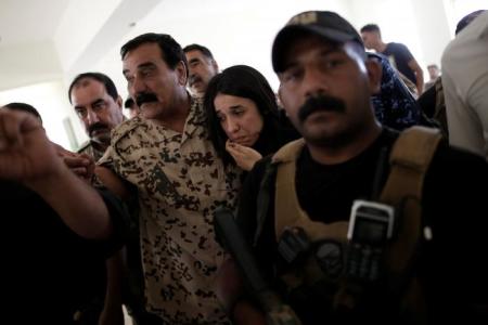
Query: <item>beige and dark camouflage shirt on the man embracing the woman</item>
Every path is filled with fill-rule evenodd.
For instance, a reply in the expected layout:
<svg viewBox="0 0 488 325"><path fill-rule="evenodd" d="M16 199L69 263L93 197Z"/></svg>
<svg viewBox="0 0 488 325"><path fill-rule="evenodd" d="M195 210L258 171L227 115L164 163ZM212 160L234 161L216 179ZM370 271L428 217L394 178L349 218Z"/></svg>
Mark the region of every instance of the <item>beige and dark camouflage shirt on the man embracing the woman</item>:
<svg viewBox="0 0 488 325"><path fill-rule="evenodd" d="M99 164L138 187L147 310L168 324L228 323L213 291L223 261L213 213L234 207L240 180L207 139L201 101L182 134L140 117L121 123Z"/></svg>

